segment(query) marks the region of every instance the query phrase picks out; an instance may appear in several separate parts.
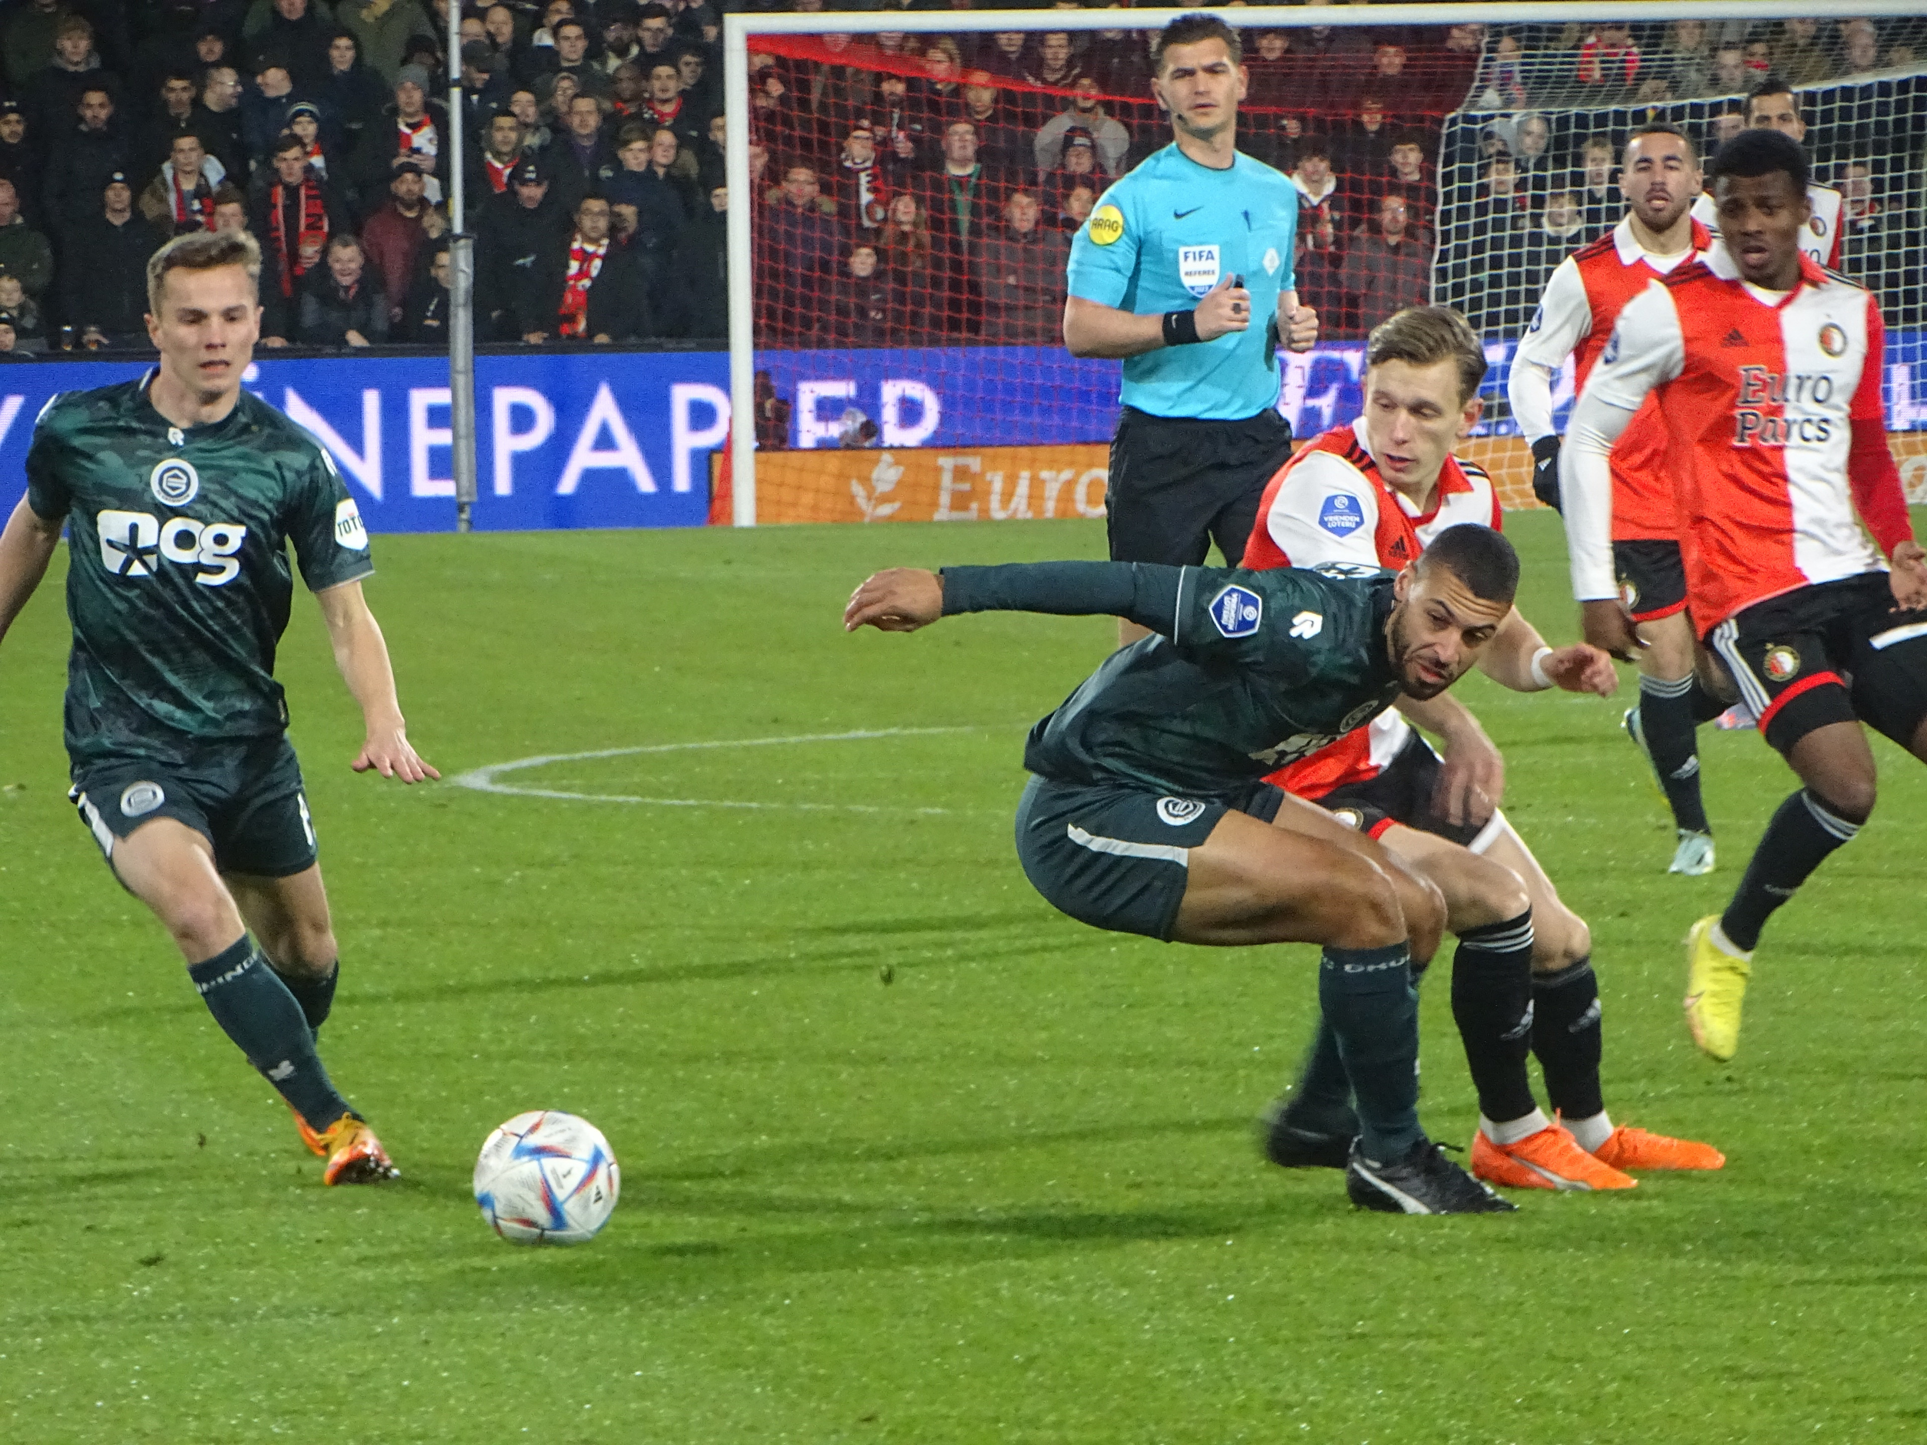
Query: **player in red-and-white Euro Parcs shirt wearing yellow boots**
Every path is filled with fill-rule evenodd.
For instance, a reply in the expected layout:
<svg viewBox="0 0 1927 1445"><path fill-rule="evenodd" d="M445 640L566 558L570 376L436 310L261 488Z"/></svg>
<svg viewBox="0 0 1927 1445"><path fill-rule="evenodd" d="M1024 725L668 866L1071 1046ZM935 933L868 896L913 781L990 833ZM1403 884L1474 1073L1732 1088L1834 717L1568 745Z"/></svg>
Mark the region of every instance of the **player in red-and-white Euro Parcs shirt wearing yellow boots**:
<svg viewBox="0 0 1927 1445"><path fill-rule="evenodd" d="M1767 917L1873 813L1861 724L1927 759L1927 553L1887 449L1879 302L1800 250L1806 152L1742 131L1713 160L1713 195L1725 247L1619 314L1572 410L1561 486L1586 636L1626 653L1611 451L1657 397L1692 462L1675 486L1694 626L1800 776L1727 911L1688 934L1686 1023L1729 1060Z"/></svg>

